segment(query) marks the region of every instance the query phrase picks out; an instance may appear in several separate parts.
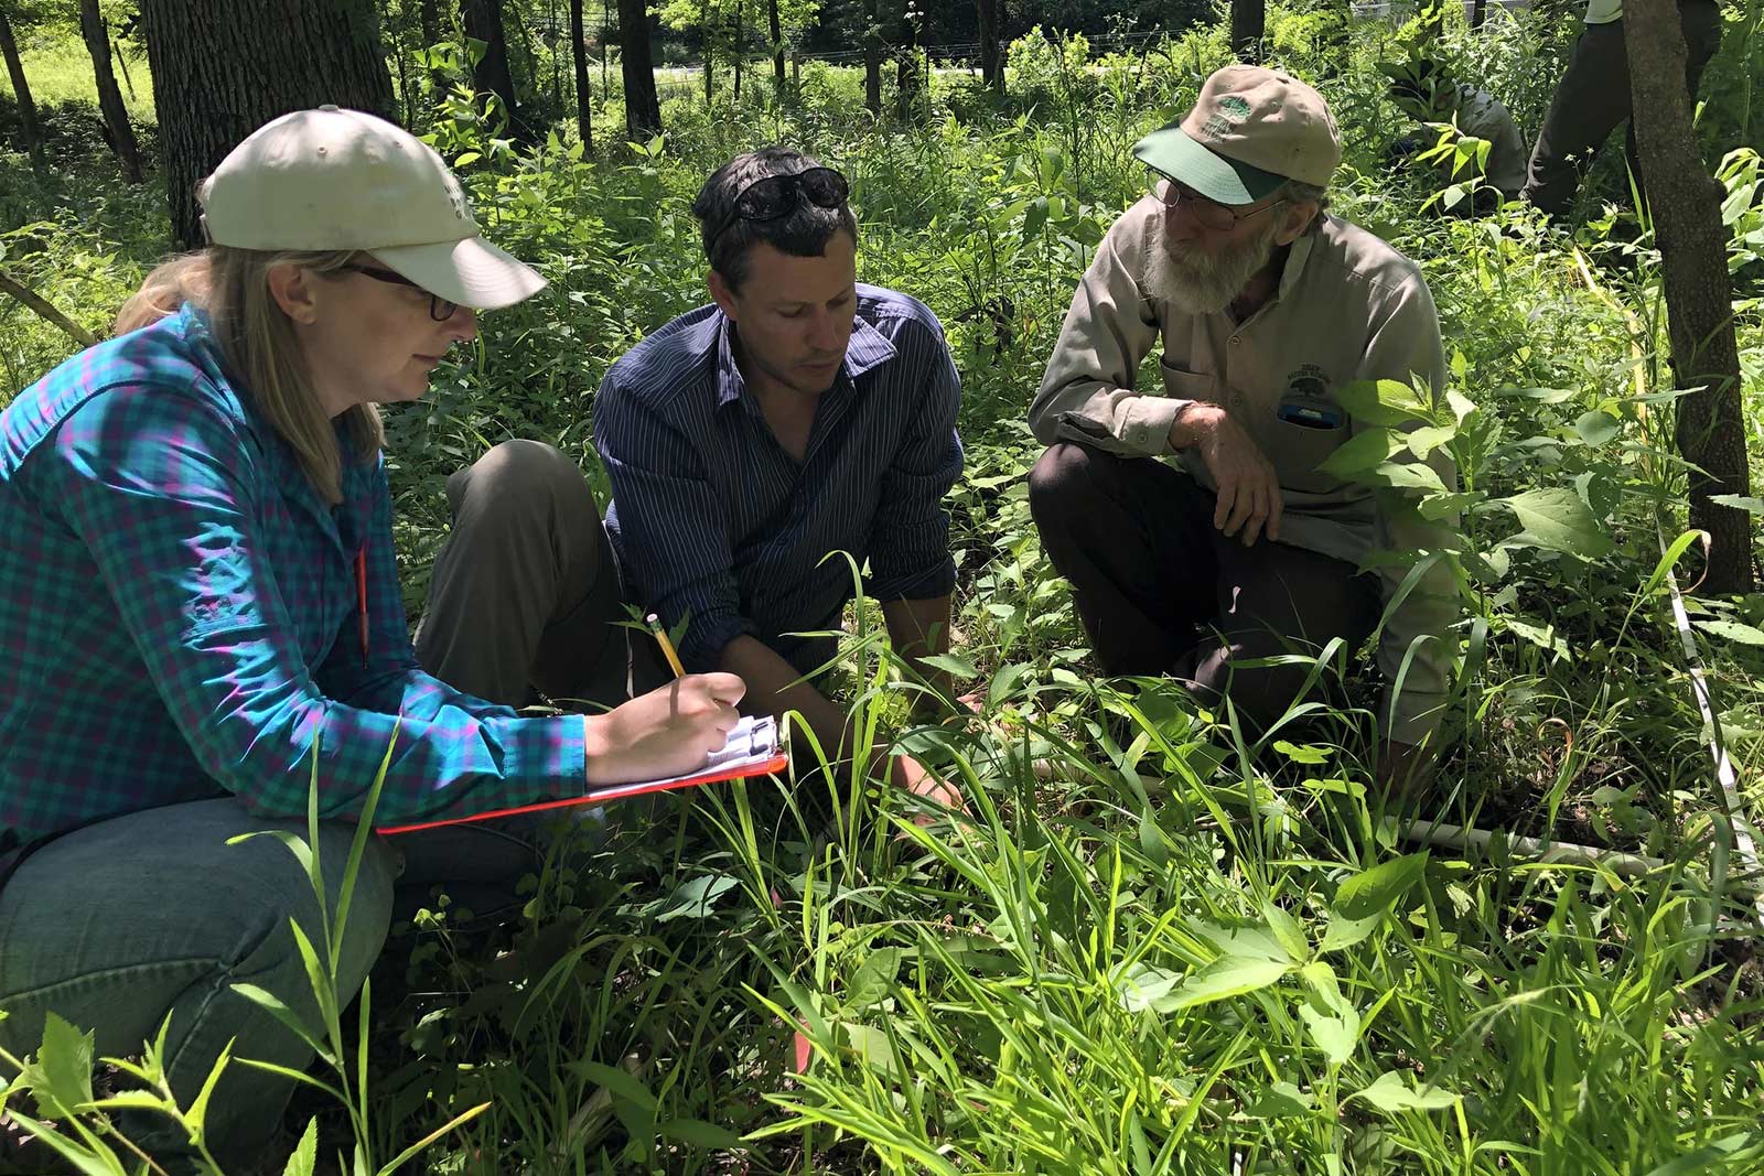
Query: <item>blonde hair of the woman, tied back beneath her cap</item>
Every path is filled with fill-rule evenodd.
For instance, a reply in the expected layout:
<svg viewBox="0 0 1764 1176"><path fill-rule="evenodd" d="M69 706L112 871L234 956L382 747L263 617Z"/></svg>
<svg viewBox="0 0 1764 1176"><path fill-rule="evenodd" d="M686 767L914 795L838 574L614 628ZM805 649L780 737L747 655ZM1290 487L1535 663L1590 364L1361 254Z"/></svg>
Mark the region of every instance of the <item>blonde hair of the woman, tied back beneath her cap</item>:
<svg viewBox="0 0 1764 1176"><path fill-rule="evenodd" d="M116 333L150 326L191 301L208 312L208 328L220 347L238 391L295 451L307 481L326 502L342 501L342 455L337 421L325 414L307 372L293 323L270 294L270 268L296 264L318 275L335 275L355 250L303 252L210 245L162 263L116 314ZM369 462L386 441L379 409L356 404L339 421L351 457Z"/></svg>

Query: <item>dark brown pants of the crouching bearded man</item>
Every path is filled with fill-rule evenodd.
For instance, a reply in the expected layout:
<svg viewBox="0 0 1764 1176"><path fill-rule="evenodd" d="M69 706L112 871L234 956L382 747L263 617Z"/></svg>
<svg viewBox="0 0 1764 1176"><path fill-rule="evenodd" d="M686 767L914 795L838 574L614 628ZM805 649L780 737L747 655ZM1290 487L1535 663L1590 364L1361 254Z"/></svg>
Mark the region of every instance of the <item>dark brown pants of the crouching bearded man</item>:
<svg viewBox="0 0 1764 1176"><path fill-rule="evenodd" d="M1267 538L1226 538L1214 495L1159 460L1055 444L1028 476L1028 504L1104 674L1171 674L1205 698L1230 693L1256 726L1295 702L1309 666L1242 661L1314 656L1335 636L1355 649L1378 624L1374 577Z"/></svg>

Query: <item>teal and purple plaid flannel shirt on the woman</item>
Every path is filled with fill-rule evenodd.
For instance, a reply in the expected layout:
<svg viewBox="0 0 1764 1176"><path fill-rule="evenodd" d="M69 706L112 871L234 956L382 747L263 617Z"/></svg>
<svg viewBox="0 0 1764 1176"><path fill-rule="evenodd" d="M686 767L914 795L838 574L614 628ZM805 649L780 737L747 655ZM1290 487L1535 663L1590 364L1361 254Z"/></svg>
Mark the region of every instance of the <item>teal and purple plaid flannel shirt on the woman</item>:
<svg viewBox="0 0 1764 1176"><path fill-rule="evenodd" d="M519 718L416 666L385 460L344 465L332 508L191 307L7 406L0 852L220 793L302 816L314 741L319 813L358 815L393 730L376 823L584 790L580 718Z"/></svg>

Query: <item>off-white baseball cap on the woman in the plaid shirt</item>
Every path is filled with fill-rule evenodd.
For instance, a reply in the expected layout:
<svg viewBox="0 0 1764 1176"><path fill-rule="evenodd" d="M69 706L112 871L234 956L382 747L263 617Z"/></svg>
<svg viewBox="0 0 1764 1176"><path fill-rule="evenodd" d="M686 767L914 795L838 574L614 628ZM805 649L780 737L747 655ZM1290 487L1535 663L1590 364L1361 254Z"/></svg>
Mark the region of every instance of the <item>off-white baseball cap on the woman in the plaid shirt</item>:
<svg viewBox="0 0 1764 1176"><path fill-rule="evenodd" d="M545 279L478 236L459 180L427 143L374 115L282 115L196 187L203 227L236 249L360 249L430 294L494 310Z"/></svg>

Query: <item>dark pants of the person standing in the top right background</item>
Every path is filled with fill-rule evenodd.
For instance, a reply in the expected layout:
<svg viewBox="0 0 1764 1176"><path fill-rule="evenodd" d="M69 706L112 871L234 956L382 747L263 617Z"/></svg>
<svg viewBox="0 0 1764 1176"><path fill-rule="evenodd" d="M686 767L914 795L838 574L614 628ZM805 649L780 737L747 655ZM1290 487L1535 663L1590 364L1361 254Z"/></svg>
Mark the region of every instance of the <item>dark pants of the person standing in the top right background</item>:
<svg viewBox="0 0 1764 1176"><path fill-rule="evenodd" d="M1678 19L1685 32L1685 92L1695 102L1702 67L1722 48L1722 9L1715 0L1681 0ZM1544 115L1522 197L1552 217L1561 215L1573 203L1593 155L1628 116L1630 55L1623 46L1623 21L1588 25ZM1633 123L1626 150L1639 182Z"/></svg>

